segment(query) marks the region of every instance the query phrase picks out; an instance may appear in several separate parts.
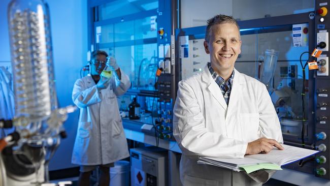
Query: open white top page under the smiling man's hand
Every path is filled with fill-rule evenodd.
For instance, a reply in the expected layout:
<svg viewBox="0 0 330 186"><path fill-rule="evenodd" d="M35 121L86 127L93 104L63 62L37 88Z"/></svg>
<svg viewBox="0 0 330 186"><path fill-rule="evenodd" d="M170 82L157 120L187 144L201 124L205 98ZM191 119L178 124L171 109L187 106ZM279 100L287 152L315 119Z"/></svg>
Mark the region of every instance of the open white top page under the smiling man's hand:
<svg viewBox="0 0 330 186"><path fill-rule="evenodd" d="M309 157L318 152L317 150L310 150L284 144L282 144L282 146L284 147L284 150L279 150L278 148L274 147L274 149L267 154L259 153L255 155L246 155L245 158L264 160L269 163L275 163L277 165L285 165L290 162Z"/></svg>

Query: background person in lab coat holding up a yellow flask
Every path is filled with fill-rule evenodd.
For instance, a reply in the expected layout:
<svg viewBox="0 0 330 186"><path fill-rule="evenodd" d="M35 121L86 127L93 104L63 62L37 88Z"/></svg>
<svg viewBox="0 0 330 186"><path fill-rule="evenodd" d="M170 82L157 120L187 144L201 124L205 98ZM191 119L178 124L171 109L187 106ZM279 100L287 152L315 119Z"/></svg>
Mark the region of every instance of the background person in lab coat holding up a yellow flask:
<svg viewBox="0 0 330 186"><path fill-rule="evenodd" d="M108 80L100 77L107 57L105 51L94 51L90 74L78 79L72 92L72 100L80 108L72 154L72 163L80 165L78 185L89 185L92 170L100 166L99 183L108 186L109 168L114 162L129 157L117 96L127 91L130 81L114 58L110 58L114 75Z"/></svg>

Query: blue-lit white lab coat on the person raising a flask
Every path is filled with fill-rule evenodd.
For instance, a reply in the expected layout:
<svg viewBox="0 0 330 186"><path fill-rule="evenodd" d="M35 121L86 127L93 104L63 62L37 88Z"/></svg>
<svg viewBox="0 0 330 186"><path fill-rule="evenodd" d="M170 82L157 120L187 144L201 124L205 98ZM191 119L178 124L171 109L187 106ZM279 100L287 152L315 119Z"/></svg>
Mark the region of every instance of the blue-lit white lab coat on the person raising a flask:
<svg viewBox="0 0 330 186"><path fill-rule="evenodd" d="M129 78L122 71L120 81L113 76L101 91L90 75L76 81L72 100L80 108L80 115L73 164L104 165L129 157L117 103L117 96L129 87Z"/></svg>

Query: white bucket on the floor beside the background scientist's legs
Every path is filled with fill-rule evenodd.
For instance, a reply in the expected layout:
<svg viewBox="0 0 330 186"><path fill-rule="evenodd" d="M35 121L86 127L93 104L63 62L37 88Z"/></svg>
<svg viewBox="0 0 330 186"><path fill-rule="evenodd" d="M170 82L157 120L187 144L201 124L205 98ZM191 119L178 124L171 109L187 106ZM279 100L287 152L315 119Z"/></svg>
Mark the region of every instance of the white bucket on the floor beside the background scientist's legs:
<svg viewBox="0 0 330 186"><path fill-rule="evenodd" d="M129 186L129 171L129 162L115 162L115 166L110 168L110 186Z"/></svg>

